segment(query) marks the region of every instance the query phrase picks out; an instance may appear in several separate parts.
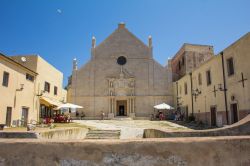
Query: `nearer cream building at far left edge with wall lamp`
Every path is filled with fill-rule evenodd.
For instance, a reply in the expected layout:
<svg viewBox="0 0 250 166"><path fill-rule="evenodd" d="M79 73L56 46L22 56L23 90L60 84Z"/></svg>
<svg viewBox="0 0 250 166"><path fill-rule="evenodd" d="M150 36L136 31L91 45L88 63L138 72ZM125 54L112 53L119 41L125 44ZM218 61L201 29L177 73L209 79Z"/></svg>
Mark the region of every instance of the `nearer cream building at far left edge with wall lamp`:
<svg viewBox="0 0 250 166"><path fill-rule="evenodd" d="M37 73L0 54L0 124L18 126L37 120L35 84Z"/></svg>

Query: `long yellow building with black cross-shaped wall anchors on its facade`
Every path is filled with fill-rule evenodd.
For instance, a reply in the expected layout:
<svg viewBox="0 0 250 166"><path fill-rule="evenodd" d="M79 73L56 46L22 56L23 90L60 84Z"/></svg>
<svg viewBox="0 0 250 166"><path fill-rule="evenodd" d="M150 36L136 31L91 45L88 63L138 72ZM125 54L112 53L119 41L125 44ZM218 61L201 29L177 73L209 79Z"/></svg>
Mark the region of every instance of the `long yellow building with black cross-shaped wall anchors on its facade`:
<svg viewBox="0 0 250 166"><path fill-rule="evenodd" d="M173 83L175 107L213 126L250 113L250 33Z"/></svg>

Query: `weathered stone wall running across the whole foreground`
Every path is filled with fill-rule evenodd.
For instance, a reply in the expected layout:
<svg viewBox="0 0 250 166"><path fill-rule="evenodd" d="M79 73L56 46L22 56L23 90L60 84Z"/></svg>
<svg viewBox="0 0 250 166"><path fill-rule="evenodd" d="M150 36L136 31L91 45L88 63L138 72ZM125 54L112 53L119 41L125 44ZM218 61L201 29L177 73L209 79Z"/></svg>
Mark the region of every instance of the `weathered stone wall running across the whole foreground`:
<svg viewBox="0 0 250 166"><path fill-rule="evenodd" d="M84 141L0 139L0 165L249 166L250 136Z"/></svg>

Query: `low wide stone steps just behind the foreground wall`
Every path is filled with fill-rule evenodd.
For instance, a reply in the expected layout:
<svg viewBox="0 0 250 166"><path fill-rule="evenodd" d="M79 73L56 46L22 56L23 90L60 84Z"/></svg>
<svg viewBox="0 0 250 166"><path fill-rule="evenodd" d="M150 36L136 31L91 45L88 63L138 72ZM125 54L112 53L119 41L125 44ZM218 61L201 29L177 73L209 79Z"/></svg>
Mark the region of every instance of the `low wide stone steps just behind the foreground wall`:
<svg viewBox="0 0 250 166"><path fill-rule="evenodd" d="M120 139L120 130L89 130L85 139Z"/></svg>

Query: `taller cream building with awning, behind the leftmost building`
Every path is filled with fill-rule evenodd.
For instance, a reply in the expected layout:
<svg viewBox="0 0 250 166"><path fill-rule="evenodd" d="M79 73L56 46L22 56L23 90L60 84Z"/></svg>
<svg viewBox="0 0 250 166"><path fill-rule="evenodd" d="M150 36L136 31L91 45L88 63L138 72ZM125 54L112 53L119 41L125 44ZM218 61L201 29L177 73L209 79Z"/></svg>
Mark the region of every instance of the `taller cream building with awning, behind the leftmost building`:
<svg viewBox="0 0 250 166"><path fill-rule="evenodd" d="M35 83L34 102L38 120L52 117L57 106L67 100L67 91L63 88L63 73L49 64L39 55L11 56L13 60L38 73Z"/></svg>

